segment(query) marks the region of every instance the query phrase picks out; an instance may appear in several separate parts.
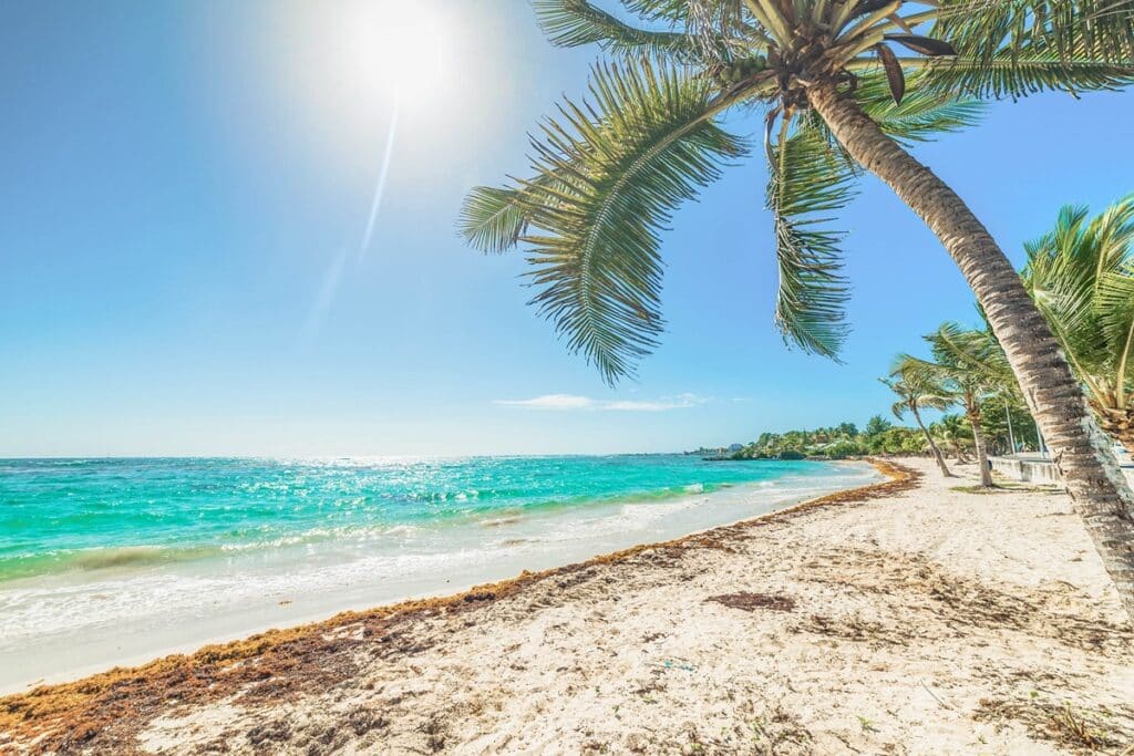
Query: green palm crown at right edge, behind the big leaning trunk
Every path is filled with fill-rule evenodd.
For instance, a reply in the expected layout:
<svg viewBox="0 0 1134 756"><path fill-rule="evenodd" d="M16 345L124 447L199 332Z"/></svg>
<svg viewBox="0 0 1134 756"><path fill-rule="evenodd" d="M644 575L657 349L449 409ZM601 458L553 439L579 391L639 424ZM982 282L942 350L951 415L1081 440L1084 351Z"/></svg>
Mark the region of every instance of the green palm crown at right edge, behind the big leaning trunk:
<svg viewBox="0 0 1134 756"><path fill-rule="evenodd" d="M1026 245L1024 286L1086 389L1102 430L1134 452L1134 197L1100 215L1064 207Z"/></svg>

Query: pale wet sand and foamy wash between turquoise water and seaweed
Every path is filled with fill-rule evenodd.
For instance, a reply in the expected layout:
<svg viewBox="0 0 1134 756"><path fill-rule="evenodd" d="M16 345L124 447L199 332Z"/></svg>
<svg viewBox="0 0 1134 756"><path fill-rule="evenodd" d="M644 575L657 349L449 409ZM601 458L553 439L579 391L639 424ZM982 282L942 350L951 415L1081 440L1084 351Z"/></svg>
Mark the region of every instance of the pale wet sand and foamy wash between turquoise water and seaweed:
<svg viewBox="0 0 1134 756"><path fill-rule="evenodd" d="M10 594L0 593L10 596L12 610L0 637L0 657L11 660L0 665L0 695L318 623L345 611L468 591L525 570L701 533L880 477L863 464L828 464L798 475L804 473L665 501L543 509L486 519L482 527L445 528L440 535L412 528L391 547L365 555L347 555L346 544L346 551L335 550L342 557L333 562L293 550L257 557L271 561L247 567L213 560L136 575L31 578ZM398 545L406 537L417 543Z"/></svg>

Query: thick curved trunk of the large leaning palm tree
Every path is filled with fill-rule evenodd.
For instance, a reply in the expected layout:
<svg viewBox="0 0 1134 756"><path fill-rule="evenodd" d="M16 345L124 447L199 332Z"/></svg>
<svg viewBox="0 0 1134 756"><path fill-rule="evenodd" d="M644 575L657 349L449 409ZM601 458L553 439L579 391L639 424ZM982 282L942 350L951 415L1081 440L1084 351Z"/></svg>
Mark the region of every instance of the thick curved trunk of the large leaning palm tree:
<svg viewBox="0 0 1134 756"><path fill-rule="evenodd" d="M883 134L854 100L826 83L811 87L807 96L850 156L888 184L957 263L1008 355L1075 511L1134 621L1134 493L1016 270L964 201Z"/></svg>

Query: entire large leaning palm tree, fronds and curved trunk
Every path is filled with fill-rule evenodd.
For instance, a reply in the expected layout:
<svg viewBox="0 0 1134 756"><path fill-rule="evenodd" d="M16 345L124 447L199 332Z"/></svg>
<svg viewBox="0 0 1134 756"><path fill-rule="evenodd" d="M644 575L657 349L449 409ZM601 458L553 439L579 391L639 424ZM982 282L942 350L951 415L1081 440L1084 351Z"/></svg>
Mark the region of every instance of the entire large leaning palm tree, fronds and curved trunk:
<svg viewBox="0 0 1134 756"><path fill-rule="evenodd" d="M475 189L460 222L482 249L527 246L533 301L568 348L613 382L657 345L659 235L745 154L723 116L762 113L786 338L837 356L847 289L841 235L823 221L860 172L878 176L988 312L1134 617L1134 494L1016 271L906 148L972 124L973 99L1129 84L1134 0L621 0L623 15L589 0L534 5L552 42L598 44L608 57L590 97L564 101L540 126L532 173Z"/></svg>

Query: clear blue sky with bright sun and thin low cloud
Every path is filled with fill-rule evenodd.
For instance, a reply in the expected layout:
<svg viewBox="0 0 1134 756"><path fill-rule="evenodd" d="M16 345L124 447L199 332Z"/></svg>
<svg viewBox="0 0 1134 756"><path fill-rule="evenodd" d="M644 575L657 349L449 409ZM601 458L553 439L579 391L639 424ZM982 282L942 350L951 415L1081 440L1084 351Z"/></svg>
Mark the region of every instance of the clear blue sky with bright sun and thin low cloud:
<svg viewBox="0 0 1134 756"><path fill-rule="evenodd" d="M868 177L844 363L786 348L756 151L675 216L668 331L606 387L526 306L523 254L455 231L596 56L524 0L0 3L0 457L720 445L862 425L896 352L975 320ZM916 154L1021 263L1061 204L1134 189L1132 97L995 103Z"/></svg>

